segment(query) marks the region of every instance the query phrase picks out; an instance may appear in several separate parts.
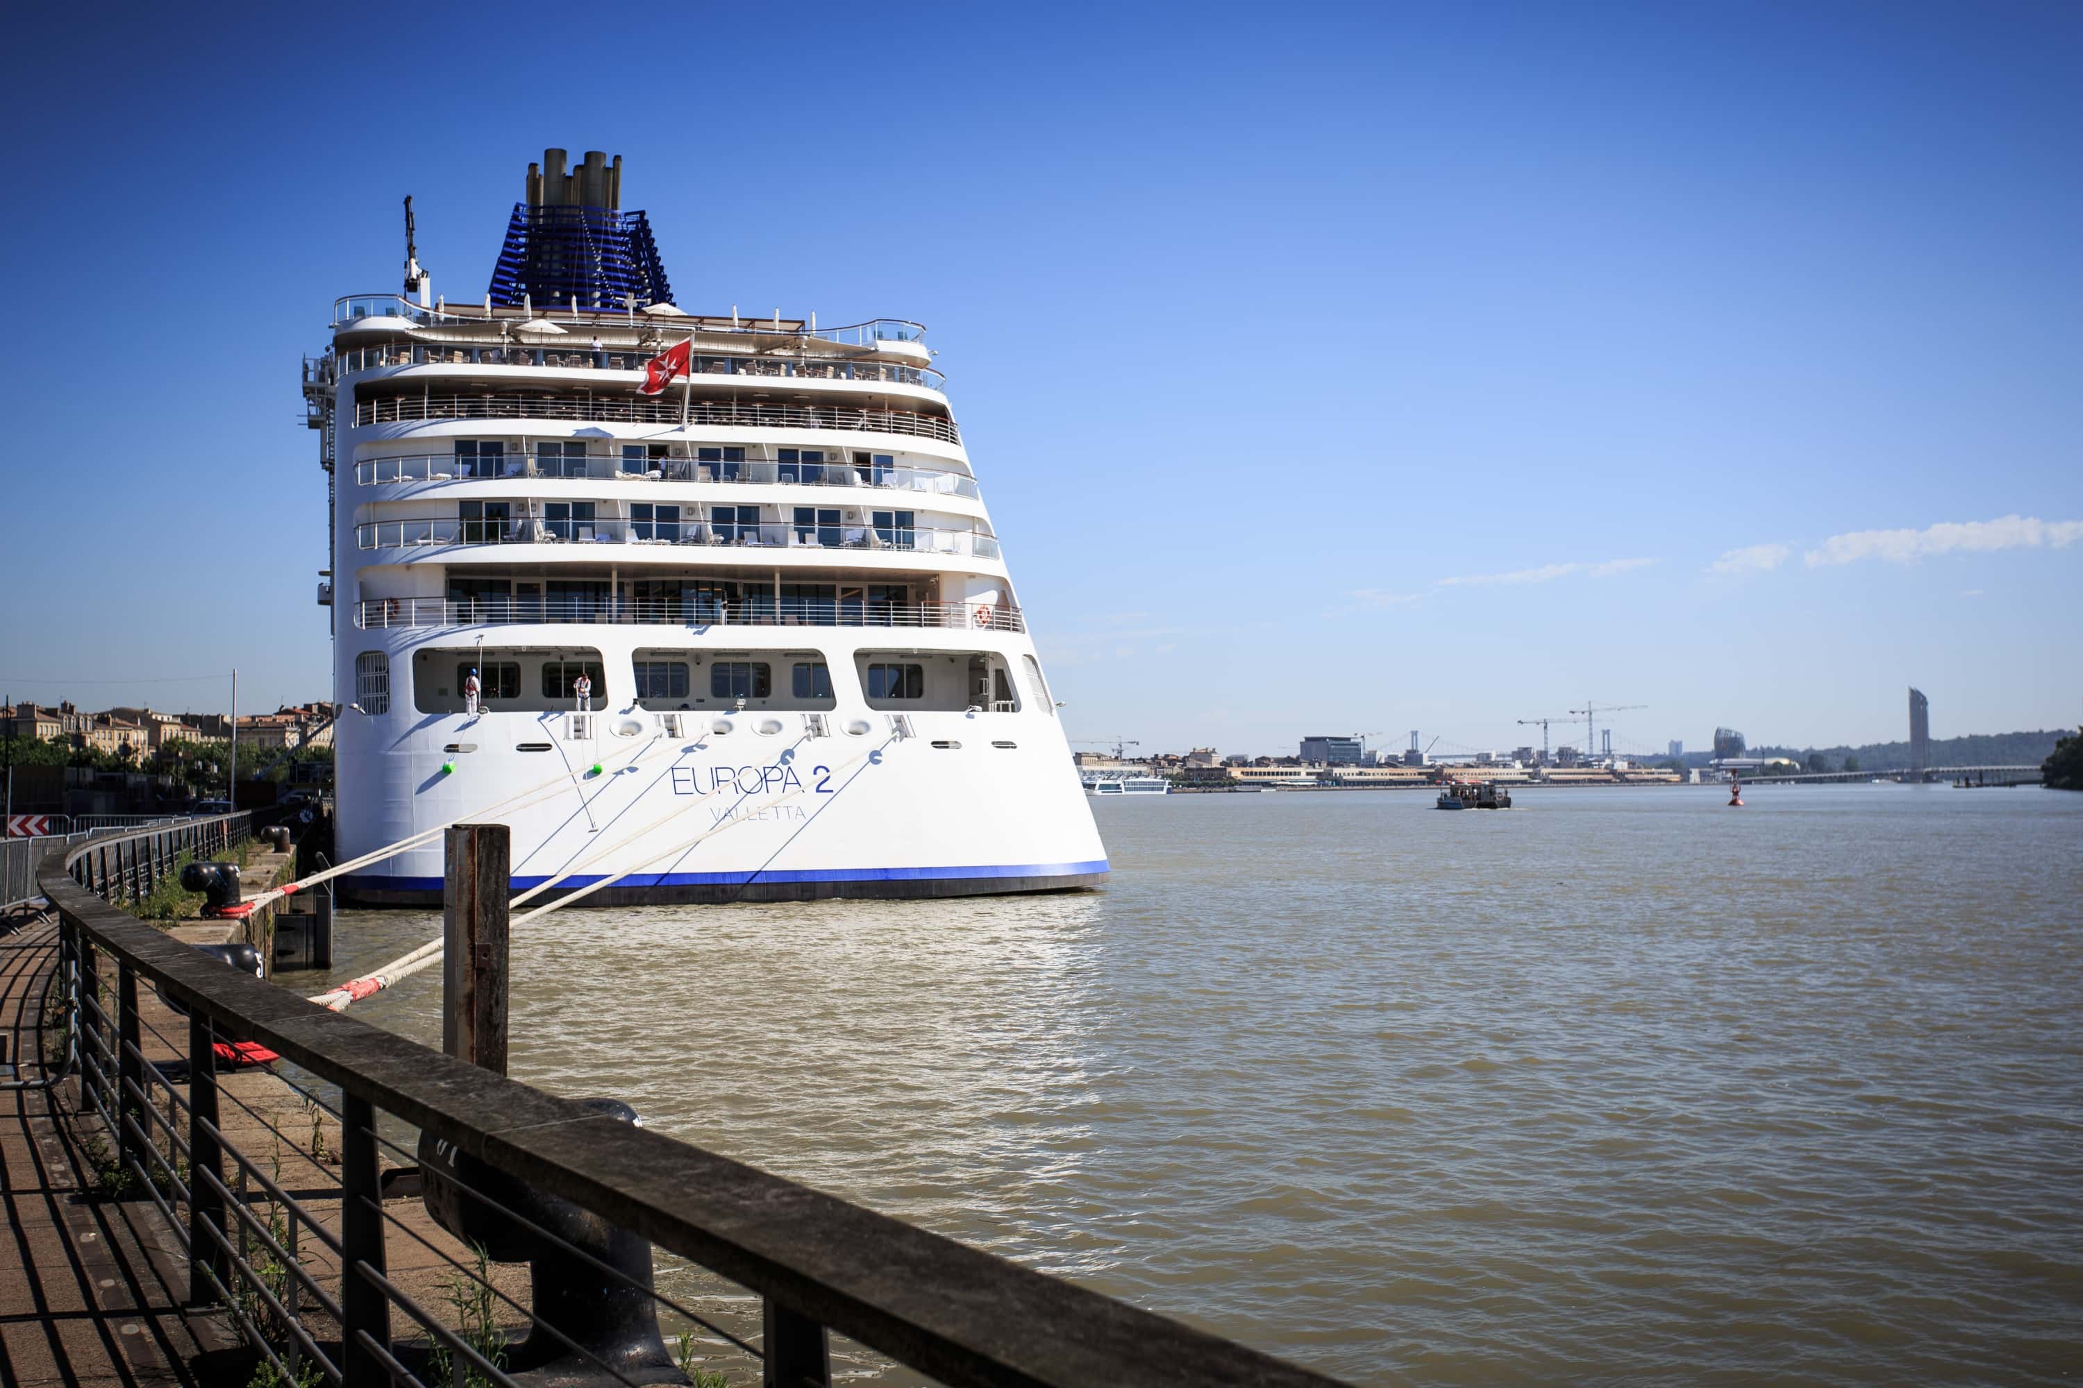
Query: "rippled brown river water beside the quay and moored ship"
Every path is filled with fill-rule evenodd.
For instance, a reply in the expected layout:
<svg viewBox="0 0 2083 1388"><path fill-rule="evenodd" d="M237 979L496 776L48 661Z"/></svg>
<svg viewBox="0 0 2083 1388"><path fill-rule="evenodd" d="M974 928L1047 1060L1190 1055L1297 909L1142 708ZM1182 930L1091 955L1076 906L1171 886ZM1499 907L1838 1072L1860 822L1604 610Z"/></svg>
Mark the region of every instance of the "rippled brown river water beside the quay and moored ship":
<svg viewBox="0 0 2083 1388"><path fill-rule="evenodd" d="M1362 1384L2083 1378L2083 795L1725 799L1106 799L1098 893L571 909L512 1074Z"/></svg>

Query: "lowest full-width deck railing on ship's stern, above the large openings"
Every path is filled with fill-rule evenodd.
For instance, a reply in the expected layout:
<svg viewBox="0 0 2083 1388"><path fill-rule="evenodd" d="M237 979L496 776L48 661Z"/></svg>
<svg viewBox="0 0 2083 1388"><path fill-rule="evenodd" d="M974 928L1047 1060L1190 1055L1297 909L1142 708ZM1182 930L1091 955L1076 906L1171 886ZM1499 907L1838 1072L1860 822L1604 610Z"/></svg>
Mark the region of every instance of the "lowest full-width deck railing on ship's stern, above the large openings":
<svg viewBox="0 0 2083 1388"><path fill-rule="evenodd" d="M637 626L933 626L1027 631L1019 608L1004 603L875 603L773 597L702 601L669 597L515 599L515 597L371 597L354 603L362 631L512 624Z"/></svg>

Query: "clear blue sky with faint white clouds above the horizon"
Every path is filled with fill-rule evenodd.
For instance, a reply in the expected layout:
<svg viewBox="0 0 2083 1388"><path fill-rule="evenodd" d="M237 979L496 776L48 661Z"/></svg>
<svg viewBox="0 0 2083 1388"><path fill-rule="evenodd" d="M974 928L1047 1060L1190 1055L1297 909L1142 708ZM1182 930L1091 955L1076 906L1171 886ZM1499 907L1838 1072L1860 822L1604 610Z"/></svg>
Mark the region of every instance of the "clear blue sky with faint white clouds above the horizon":
<svg viewBox="0 0 2083 1388"><path fill-rule="evenodd" d="M581 33L575 23L592 27ZM2075 6L17 17L0 695L323 697L298 358L544 146L929 325L1073 737L2083 716ZM54 680L54 683L31 683ZM96 680L96 683L90 683Z"/></svg>

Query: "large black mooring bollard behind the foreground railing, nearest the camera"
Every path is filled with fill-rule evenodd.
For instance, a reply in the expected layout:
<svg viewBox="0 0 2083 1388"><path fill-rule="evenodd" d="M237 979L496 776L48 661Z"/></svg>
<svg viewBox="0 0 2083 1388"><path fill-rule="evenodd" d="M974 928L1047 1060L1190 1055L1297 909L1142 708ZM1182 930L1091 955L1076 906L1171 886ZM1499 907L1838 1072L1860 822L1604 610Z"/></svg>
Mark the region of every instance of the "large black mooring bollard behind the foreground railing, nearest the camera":
<svg viewBox="0 0 2083 1388"><path fill-rule="evenodd" d="M619 1099L585 1099L587 1109L627 1124L637 1111ZM564 1338L542 1326L527 1340L506 1351L506 1371L531 1388L606 1388L614 1376L606 1363L635 1384L685 1384L673 1365L673 1355L658 1334L658 1309L652 1290L650 1240L617 1228L571 1201L544 1194L448 1142L421 1134L419 1165L427 1213L465 1242L479 1244L494 1263L529 1265L529 1305L535 1315ZM475 1192L475 1194L473 1194ZM485 1199L477 1199L477 1194ZM554 1238L525 1228L494 1205L521 1215ZM562 1242L560 1242L562 1240ZM571 1246L567 1246L571 1244ZM594 1261L617 1269L610 1278ZM594 1359L587 1359L592 1355Z"/></svg>

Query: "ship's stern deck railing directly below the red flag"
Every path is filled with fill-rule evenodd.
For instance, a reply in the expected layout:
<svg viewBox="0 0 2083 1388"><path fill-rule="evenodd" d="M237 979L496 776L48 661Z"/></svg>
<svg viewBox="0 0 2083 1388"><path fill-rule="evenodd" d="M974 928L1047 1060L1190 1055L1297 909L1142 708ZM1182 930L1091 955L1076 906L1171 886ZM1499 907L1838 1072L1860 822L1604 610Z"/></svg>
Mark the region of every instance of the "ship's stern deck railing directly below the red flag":
<svg viewBox="0 0 2083 1388"><path fill-rule="evenodd" d="M354 425L412 425L421 420L531 418L594 425L679 425L681 402L662 395L377 395L354 402ZM696 402L689 425L704 429L846 429L854 433L896 433L914 439L960 443L952 418L910 410L846 410L827 406L764 406Z"/></svg>

